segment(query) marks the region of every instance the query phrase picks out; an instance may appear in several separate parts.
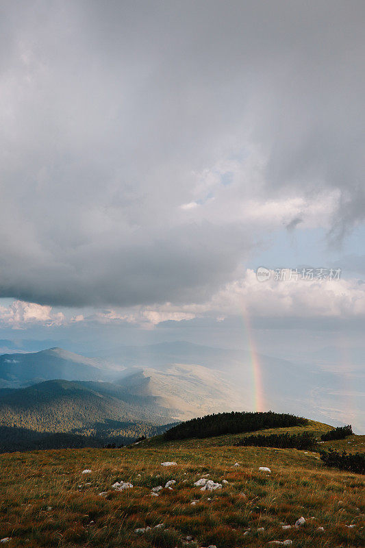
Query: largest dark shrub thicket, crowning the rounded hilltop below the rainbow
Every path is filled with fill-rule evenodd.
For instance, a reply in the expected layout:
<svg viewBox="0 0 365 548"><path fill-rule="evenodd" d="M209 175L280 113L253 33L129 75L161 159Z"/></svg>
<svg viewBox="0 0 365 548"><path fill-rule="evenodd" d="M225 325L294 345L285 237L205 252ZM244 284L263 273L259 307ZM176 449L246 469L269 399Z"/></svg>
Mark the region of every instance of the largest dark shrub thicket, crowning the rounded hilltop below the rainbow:
<svg viewBox="0 0 365 548"><path fill-rule="evenodd" d="M210 438L222 434L255 432L266 428L306 425L307 419L287 414L268 412L231 412L206 415L179 423L164 432L165 440L184 438Z"/></svg>

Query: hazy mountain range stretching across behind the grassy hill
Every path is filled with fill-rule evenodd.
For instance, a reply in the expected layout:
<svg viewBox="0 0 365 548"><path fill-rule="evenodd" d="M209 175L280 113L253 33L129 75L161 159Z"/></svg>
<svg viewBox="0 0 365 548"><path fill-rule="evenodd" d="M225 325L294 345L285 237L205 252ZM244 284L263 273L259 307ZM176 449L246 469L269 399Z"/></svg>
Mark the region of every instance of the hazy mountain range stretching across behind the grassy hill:
<svg viewBox="0 0 365 548"><path fill-rule="evenodd" d="M7 439L13 428L20 429L17 438L27 431L27 440L37 432L125 443L165 423L253 410L257 403L334 424L351 416L338 406L340 375L262 355L255 370L252 363L247 351L183 341L121 347L99 357L57 347L6 353L0 356L0 427ZM360 383L354 394L360 405Z"/></svg>

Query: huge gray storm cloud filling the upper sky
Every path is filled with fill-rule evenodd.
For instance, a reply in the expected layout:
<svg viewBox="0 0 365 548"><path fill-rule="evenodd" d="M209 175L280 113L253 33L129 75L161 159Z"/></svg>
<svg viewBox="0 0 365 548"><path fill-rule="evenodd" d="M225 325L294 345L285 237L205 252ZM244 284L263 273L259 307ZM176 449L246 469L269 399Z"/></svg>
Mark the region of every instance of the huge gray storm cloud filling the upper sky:
<svg viewBox="0 0 365 548"><path fill-rule="evenodd" d="M260 238L237 203L338 192L333 234L363 220L363 2L1 10L2 297L199 301Z"/></svg>

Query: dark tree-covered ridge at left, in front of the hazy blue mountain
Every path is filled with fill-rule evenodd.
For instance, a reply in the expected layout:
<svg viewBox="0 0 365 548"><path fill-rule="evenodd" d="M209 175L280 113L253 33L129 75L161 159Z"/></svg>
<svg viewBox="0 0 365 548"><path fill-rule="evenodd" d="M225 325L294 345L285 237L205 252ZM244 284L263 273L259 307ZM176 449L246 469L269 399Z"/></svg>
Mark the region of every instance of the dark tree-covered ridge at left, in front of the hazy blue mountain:
<svg viewBox="0 0 365 548"><path fill-rule="evenodd" d="M168 425L153 398L116 384L55 380L0 394L0 451L122 445Z"/></svg>

